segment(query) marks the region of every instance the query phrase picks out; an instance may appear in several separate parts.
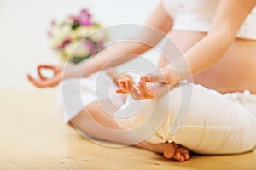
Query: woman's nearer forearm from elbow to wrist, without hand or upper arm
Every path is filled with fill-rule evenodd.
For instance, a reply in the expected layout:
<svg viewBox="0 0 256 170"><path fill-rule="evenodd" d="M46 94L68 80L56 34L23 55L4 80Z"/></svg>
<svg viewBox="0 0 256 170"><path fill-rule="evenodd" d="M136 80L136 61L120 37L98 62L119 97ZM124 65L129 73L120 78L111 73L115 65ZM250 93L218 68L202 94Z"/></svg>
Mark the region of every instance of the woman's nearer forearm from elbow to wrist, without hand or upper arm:
<svg viewBox="0 0 256 170"><path fill-rule="evenodd" d="M197 42L183 56L173 61L179 81L214 65L230 48L234 38L235 36L230 35L229 32L216 31Z"/></svg>

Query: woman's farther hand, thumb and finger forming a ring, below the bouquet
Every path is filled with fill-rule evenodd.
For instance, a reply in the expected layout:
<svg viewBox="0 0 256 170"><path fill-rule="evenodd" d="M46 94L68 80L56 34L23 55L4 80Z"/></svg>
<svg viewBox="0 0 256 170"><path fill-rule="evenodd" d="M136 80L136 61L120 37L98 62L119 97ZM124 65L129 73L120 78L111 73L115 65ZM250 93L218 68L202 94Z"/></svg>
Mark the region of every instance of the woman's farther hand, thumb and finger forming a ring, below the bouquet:
<svg viewBox="0 0 256 170"><path fill-rule="evenodd" d="M42 74L42 69L54 72L54 77L45 77ZM63 77L64 67L62 65L38 65L38 80L27 74L27 80L38 88L54 87L61 82Z"/></svg>

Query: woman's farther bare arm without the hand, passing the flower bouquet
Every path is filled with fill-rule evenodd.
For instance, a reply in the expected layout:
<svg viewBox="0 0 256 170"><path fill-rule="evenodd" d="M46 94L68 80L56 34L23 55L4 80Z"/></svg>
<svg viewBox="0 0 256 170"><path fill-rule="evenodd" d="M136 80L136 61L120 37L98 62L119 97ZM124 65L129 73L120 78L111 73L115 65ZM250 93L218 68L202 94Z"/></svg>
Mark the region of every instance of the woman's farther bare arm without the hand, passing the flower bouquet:
<svg viewBox="0 0 256 170"><path fill-rule="evenodd" d="M149 15L145 26L141 26L142 31L137 32L137 36L131 38L132 42L118 42L105 48L90 60L67 68L64 78L87 77L106 67L120 65L134 59L160 42L172 29L172 22L172 18L166 14L165 8L160 2L153 13Z"/></svg>

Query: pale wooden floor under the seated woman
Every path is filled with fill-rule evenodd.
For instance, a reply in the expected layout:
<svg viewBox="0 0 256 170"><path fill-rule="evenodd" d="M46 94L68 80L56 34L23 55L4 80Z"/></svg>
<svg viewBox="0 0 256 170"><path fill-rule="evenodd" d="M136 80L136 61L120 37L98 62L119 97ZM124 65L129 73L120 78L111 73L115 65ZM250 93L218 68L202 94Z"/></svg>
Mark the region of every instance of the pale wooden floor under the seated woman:
<svg viewBox="0 0 256 170"><path fill-rule="evenodd" d="M256 151L237 156L192 156L183 163L133 147L110 148L65 126L55 89L1 89L0 169L256 170Z"/></svg>

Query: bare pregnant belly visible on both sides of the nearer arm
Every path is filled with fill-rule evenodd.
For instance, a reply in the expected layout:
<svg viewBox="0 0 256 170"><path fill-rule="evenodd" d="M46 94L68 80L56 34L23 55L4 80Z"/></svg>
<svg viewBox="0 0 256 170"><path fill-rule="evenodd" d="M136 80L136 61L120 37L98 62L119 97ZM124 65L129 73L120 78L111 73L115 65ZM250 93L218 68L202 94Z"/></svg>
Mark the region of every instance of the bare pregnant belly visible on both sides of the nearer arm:
<svg viewBox="0 0 256 170"><path fill-rule="evenodd" d="M172 31L170 37L184 53L196 42L205 37L205 33L195 31ZM160 57L160 67L167 65L165 57ZM191 79L220 93L250 90L256 94L256 42L236 39L223 58L207 71Z"/></svg>

